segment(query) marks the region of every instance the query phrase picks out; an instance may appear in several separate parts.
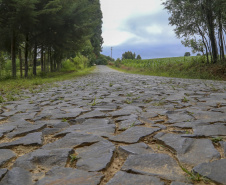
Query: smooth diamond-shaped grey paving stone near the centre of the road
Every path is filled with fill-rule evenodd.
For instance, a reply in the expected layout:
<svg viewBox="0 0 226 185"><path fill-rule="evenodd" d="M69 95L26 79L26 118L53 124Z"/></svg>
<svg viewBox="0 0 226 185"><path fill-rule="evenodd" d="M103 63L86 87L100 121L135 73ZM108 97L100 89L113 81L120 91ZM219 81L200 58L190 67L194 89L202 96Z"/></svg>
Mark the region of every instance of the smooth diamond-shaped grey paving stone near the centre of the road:
<svg viewBox="0 0 226 185"><path fill-rule="evenodd" d="M110 137L110 140L123 143L137 143L141 138L151 135L159 130L159 128L135 126L127 129L117 136Z"/></svg>

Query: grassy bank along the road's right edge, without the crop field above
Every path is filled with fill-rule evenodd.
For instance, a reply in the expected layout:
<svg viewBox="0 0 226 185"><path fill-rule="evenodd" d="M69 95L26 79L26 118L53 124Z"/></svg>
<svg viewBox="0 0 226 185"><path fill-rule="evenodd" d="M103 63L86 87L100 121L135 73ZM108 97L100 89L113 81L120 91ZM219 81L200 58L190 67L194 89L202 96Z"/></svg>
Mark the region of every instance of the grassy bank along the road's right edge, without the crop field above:
<svg viewBox="0 0 226 185"><path fill-rule="evenodd" d="M226 80L226 64L205 64L205 63L167 63L155 68L128 67L123 64L119 67L109 67L121 72L142 74L150 76L163 76L189 79Z"/></svg>

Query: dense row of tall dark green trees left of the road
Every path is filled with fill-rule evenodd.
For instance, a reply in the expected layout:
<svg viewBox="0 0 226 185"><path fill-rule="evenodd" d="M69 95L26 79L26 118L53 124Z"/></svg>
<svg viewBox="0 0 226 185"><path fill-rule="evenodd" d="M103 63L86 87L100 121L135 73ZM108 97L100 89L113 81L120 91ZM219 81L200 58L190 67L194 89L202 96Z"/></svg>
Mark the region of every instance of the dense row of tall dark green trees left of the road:
<svg viewBox="0 0 226 185"><path fill-rule="evenodd" d="M99 56L101 27L99 0L0 0L0 51L10 55L14 78L16 58L27 77L29 59L36 75L37 58L42 72L53 72L76 52Z"/></svg>

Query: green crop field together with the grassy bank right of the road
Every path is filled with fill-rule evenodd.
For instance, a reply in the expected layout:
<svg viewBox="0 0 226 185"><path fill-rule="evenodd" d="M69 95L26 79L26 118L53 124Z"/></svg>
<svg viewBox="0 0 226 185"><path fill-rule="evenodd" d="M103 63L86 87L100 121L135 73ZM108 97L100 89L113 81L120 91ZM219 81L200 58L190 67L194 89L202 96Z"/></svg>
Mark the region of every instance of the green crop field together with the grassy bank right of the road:
<svg viewBox="0 0 226 185"><path fill-rule="evenodd" d="M120 64L109 66L113 69L132 74L226 80L226 62L207 64L202 60L203 58L190 57L186 60L183 58L184 57L166 58L161 60L123 60Z"/></svg>

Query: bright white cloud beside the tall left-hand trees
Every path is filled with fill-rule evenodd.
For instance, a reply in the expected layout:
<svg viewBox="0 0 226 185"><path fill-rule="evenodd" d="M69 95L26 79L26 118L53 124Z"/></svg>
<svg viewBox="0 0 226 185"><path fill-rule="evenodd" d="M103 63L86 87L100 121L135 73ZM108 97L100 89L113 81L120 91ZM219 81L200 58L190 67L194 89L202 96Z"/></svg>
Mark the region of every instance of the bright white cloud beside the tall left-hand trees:
<svg viewBox="0 0 226 185"><path fill-rule="evenodd" d="M126 20L146 14L155 14L163 9L160 0L100 0L103 12L103 46L115 46L136 35L123 31Z"/></svg>

